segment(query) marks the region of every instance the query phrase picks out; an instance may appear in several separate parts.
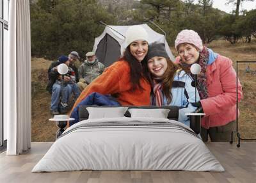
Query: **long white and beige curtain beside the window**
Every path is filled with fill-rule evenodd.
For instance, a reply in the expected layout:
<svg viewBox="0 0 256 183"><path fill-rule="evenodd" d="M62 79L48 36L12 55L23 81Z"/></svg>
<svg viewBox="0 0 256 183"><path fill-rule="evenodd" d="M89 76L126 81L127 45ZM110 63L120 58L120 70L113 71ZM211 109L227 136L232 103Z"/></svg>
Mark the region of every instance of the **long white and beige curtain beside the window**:
<svg viewBox="0 0 256 183"><path fill-rule="evenodd" d="M31 51L29 0L10 1L8 60L4 61L4 120L8 155L31 147Z"/></svg>

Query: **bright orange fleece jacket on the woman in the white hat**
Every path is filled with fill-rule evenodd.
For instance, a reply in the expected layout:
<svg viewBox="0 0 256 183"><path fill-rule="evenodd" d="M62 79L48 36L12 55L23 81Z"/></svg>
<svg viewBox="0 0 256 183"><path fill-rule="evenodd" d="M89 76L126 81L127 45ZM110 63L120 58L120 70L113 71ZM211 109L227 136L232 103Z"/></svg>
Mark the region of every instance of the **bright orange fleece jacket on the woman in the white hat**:
<svg viewBox="0 0 256 183"><path fill-rule="evenodd" d="M98 92L105 94L118 94L118 102L122 106L149 106L150 105L150 84L146 79L140 79L141 87L144 90L136 89L131 91L130 67L124 60L116 61L104 72L90 83L79 95L73 109L86 98L90 93ZM72 111L73 111L72 109Z"/></svg>

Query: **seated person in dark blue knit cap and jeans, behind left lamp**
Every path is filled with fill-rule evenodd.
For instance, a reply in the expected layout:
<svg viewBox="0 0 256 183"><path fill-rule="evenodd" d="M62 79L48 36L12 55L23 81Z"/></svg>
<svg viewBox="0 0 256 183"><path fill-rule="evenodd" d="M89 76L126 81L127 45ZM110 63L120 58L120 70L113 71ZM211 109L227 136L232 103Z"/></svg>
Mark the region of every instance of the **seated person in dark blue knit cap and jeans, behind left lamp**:
<svg viewBox="0 0 256 183"><path fill-rule="evenodd" d="M52 77L51 80L49 81L54 81L54 84L52 84L52 97L51 97L51 113L52 115L58 115L60 114L58 111L58 105L60 102L60 95L62 93L61 91L61 84L62 84L62 76L58 73L58 65L61 63L65 63L67 66L69 66L69 60L67 56L60 56L58 58L58 61L53 62L52 65L49 68L49 76L54 76ZM54 66L54 67L52 67ZM68 72L63 78L63 102L61 105L63 107L67 107L68 104L68 94L70 95L70 90L75 93L75 98L77 98L80 95L79 89L76 84L76 76L74 74L74 70L72 68L68 67ZM70 89L71 88L71 89Z"/></svg>

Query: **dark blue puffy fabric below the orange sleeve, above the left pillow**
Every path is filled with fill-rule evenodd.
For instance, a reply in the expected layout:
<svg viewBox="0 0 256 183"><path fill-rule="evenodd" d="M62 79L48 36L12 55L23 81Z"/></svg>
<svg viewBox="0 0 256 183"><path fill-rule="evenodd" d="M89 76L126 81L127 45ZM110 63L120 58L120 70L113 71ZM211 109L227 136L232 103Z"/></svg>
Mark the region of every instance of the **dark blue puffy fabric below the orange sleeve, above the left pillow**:
<svg viewBox="0 0 256 183"><path fill-rule="evenodd" d="M120 104L111 97L111 95L102 95L97 92L93 92L84 100L82 100L72 111L70 118L75 118L74 121L69 122L69 126L79 122L79 106L120 106Z"/></svg>

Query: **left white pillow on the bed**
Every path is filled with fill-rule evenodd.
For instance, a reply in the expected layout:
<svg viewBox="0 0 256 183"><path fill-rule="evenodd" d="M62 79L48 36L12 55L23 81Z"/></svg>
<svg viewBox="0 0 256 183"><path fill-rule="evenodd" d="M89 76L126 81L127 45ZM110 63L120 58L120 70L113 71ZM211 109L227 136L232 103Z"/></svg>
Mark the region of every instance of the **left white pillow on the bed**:
<svg viewBox="0 0 256 183"><path fill-rule="evenodd" d="M124 114L128 107L86 107L89 117L96 118L120 118L125 117Z"/></svg>

